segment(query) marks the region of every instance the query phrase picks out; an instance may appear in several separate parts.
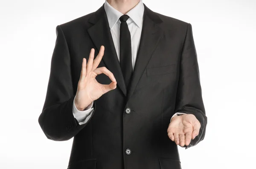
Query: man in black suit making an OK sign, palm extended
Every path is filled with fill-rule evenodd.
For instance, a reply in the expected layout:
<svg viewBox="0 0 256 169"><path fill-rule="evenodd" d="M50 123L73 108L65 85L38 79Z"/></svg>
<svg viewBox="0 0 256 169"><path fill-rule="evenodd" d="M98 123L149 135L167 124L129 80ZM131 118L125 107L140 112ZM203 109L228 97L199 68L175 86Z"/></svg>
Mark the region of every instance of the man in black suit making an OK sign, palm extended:
<svg viewBox="0 0 256 169"><path fill-rule="evenodd" d="M191 24L107 0L56 34L38 121L74 137L68 169L181 169L207 125Z"/></svg>

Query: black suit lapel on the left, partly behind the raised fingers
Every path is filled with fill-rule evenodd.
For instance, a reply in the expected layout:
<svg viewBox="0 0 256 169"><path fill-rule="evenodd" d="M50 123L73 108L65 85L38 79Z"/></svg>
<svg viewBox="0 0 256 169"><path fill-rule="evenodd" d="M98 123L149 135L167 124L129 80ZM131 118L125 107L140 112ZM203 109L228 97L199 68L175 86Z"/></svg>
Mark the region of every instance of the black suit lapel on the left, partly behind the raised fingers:
<svg viewBox="0 0 256 169"><path fill-rule="evenodd" d="M102 57L102 60L105 63L107 69L114 74L117 86L119 86L123 94L126 96L127 91L125 86L125 80L122 75L122 70L118 57L116 55L116 49L113 43L104 5L99 8L92 17L90 17L89 22L92 23L93 26L88 29L88 33L93 40L93 43L96 46L98 52L100 46L105 46L104 56Z"/></svg>

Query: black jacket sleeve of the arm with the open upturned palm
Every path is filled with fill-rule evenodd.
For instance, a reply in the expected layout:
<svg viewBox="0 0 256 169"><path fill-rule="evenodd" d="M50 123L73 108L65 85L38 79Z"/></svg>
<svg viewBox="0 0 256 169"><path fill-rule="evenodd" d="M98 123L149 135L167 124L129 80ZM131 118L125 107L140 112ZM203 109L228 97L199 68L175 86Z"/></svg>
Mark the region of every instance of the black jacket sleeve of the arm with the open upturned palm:
<svg viewBox="0 0 256 169"><path fill-rule="evenodd" d="M176 112L193 114L201 123L199 135L194 140L191 140L189 146L184 147L187 149L195 146L204 139L207 116L202 99L198 60L190 23L187 25L186 37L180 57L180 76L175 103Z"/></svg>

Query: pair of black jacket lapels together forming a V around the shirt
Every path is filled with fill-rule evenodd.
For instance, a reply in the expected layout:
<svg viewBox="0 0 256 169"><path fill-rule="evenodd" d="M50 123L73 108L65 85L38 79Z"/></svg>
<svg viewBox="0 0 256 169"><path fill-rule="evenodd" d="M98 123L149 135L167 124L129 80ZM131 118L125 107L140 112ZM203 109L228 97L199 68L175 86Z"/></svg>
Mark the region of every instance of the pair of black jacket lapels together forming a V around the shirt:
<svg viewBox="0 0 256 169"><path fill-rule="evenodd" d="M148 9L144 3L143 5L144 15L140 45L128 91L126 90L125 80L116 55L116 49L113 44L104 5L89 19L89 22L92 23L93 26L88 29L88 33L98 52L101 45L105 46L105 52L102 60L106 67L114 74L117 86L119 86L123 94L127 97L127 101L131 98L141 75L143 74L160 38L163 35L162 29L158 26L158 24L163 21L157 14Z"/></svg>

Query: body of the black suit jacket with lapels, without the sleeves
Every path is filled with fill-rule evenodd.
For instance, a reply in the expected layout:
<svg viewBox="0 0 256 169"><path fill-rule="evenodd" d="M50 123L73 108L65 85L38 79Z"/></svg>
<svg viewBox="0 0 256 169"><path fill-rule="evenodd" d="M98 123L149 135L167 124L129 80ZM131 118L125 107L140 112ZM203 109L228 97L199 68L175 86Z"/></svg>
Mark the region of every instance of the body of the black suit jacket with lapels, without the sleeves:
<svg viewBox="0 0 256 169"><path fill-rule="evenodd" d="M177 145L169 139L167 128L175 113L187 23L146 6L145 12L130 91L124 86L103 6L61 25L70 52L74 93L82 58L88 60L91 48L97 54L100 45L105 46L105 54L99 67L107 67L117 80L115 90L95 100L93 117L74 137L68 169L180 169ZM105 74L96 80L111 83ZM131 154L126 154L127 149Z"/></svg>

